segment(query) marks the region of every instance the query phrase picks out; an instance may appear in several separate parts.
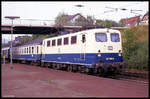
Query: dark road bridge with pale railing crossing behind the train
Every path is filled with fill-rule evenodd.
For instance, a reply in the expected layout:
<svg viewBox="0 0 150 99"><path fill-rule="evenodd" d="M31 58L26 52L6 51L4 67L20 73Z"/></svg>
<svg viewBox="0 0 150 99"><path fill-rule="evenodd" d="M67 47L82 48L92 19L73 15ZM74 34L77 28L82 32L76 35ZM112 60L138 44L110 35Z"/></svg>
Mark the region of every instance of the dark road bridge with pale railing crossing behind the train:
<svg viewBox="0 0 150 99"><path fill-rule="evenodd" d="M3 19L1 33L11 34L11 20ZM54 20L16 19L13 22L13 34L57 34L63 31L78 31L82 26L55 26Z"/></svg>

